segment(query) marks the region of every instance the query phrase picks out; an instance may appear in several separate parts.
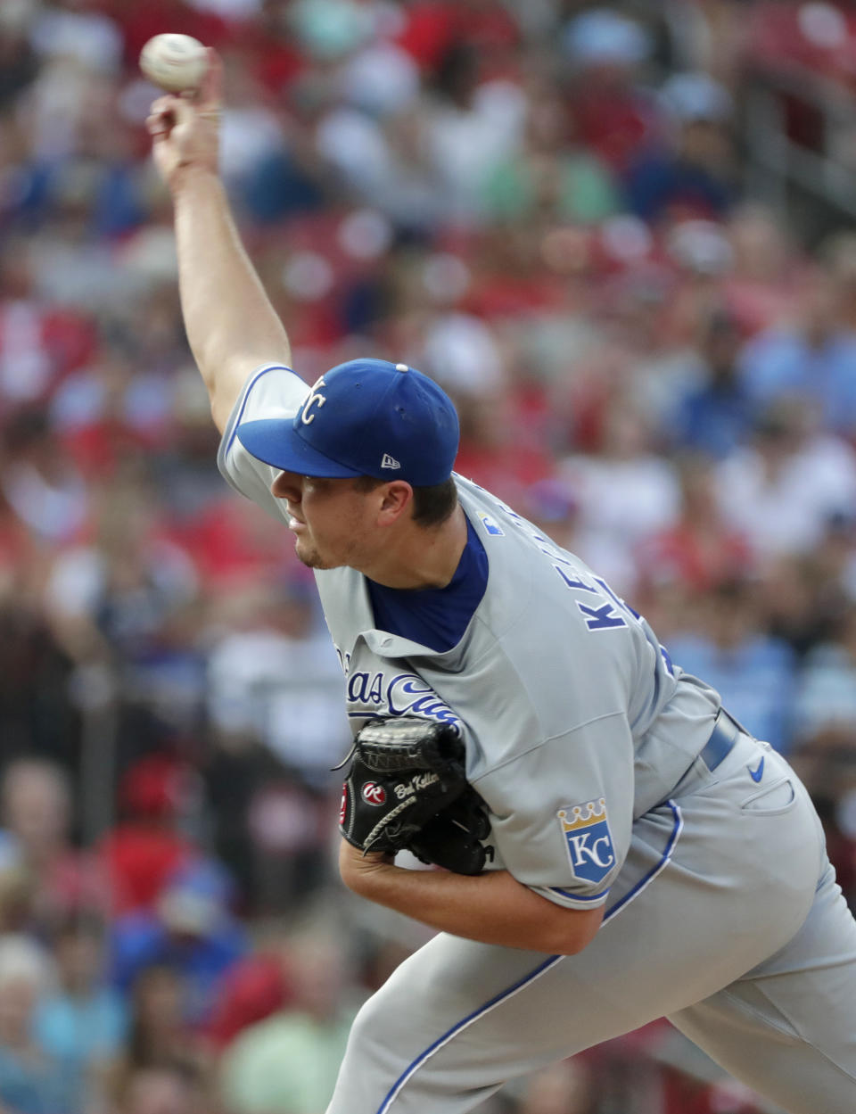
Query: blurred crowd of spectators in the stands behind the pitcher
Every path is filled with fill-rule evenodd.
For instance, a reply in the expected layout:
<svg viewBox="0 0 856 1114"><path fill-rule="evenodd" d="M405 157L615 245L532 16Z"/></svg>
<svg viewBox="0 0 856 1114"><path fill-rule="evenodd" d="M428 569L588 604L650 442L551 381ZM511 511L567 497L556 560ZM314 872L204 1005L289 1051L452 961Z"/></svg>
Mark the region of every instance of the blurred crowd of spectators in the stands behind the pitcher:
<svg viewBox="0 0 856 1114"><path fill-rule="evenodd" d="M338 665L215 467L137 70L167 30L224 58L297 371L435 377L457 470L790 756L856 905L856 231L742 173L765 72L856 92L852 9L2 0L2 1114L323 1114L427 938L337 885ZM490 1114L759 1110L653 1025Z"/></svg>

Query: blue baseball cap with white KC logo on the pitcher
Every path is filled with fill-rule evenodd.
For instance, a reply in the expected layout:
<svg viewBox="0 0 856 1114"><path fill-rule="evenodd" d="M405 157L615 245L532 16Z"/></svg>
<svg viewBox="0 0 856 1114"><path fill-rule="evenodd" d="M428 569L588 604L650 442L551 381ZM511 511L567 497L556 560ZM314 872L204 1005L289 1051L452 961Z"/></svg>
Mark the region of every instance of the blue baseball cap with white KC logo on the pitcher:
<svg viewBox="0 0 856 1114"><path fill-rule="evenodd" d="M437 384L406 363L348 360L326 371L294 418L238 426L244 448L301 476L374 476L433 487L452 475L457 414Z"/></svg>

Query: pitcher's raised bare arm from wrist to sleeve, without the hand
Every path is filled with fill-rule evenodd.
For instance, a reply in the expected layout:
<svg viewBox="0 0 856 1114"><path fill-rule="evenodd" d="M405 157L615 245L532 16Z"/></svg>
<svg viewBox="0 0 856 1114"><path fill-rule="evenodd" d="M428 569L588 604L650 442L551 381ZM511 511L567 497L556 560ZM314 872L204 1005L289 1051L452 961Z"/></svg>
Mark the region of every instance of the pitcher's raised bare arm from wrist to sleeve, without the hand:
<svg viewBox="0 0 856 1114"><path fill-rule="evenodd" d="M178 276L187 339L223 429L259 363L288 363L288 336L247 256L223 183L184 167L174 183Z"/></svg>

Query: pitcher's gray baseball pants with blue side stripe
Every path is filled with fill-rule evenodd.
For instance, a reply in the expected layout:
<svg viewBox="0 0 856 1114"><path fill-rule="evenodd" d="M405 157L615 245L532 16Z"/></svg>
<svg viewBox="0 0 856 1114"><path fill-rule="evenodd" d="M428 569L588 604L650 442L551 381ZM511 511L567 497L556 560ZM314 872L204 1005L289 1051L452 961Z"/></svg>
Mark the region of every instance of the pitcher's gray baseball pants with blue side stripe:
<svg viewBox="0 0 856 1114"><path fill-rule="evenodd" d="M805 788L746 735L637 821L579 955L441 934L403 962L358 1014L327 1114L471 1111L663 1015L790 1114L856 1111L856 921Z"/></svg>

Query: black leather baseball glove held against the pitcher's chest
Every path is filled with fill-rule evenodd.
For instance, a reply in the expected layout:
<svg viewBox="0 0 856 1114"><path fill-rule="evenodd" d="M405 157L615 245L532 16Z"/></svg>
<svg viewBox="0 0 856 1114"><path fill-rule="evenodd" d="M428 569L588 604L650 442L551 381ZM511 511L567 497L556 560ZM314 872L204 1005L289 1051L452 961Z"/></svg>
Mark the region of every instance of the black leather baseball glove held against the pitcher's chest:
<svg viewBox="0 0 856 1114"><path fill-rule="evenodd" d="M406 849L459 874L481 872L490 821L452 727L415 716L370 720L350 760L340 811L348 843L386 854Z"/></svg>

